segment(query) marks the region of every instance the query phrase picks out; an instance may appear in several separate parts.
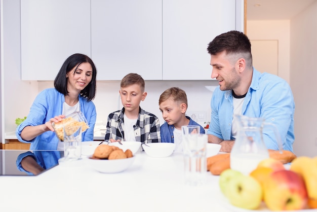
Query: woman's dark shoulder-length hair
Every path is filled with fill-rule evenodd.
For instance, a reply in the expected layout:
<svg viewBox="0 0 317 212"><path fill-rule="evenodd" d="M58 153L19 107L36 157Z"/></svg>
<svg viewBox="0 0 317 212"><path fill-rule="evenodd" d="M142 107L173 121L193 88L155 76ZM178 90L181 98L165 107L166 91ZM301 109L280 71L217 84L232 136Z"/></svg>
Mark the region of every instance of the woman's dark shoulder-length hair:
<svg viewBox="0 0 317 212"><path fill-rule="evenodd" d="M81 91L81 95L86 97L88 101L91 101L95 98L96 94L97 69L94 62L87 55L73 54L69 56L63 63L54 80L54 87L58 90L58 92L68 95L66 74L69 73L75 66L78 66L83 62L88 62L93 68L93 76L90 83Z"/></svg>

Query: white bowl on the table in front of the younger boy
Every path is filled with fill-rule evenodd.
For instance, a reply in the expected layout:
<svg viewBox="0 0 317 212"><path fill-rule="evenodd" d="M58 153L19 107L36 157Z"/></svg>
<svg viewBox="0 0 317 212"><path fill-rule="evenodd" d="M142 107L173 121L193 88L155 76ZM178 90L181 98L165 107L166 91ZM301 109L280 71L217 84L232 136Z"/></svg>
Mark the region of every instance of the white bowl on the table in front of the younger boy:
<svg viewBox="0 0 317 212"><path fill-rule="evenodd" d="M148 143L147 145L149 147L142 144L145 153L155 158L169 157L175 150L174 143Z"/></svg>

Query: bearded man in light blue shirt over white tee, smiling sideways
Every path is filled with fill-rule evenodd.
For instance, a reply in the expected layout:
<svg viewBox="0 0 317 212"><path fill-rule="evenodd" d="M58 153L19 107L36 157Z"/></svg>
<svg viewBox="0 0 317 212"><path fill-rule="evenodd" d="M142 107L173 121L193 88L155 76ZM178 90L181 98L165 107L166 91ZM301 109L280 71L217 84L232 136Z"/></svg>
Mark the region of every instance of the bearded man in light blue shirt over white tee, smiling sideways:
<svg viewBox="0 0 317 212"><path fill-rule="evenodd" d="M251 43L242 32L220 34L207 50L213 67L211 78L219 82L211 99L208 142L220 144L222 152L230 152L239 127L233 115L238 114L261 117L274 124L283 149L293 152L295 104L288 83L253 68ZM279 149L273 132L264 130L263 139L267 149Z"/></svg>

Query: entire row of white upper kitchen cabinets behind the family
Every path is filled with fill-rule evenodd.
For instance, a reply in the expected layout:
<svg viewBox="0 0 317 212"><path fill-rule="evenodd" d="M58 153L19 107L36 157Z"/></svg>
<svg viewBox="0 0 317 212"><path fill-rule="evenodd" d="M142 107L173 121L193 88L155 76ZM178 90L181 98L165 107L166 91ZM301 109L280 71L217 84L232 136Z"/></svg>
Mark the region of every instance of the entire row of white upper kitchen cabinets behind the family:
<svg viewBox="0 0 317 212"><path fill-rule="evenodd" d="M209 80L208 43L243 17L243 0L20 2L22 80L54 80L73 53L93 59L97 80Z"/></svg>

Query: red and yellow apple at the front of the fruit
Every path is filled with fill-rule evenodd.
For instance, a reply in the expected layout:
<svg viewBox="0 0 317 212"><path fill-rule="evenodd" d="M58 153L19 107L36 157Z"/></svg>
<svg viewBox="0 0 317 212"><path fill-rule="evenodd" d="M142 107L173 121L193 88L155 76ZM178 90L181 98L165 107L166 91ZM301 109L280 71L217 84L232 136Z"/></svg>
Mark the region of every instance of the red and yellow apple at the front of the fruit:
<svg viewBox="0 0 317 212"><path fill-rule="evenodd" d="M270 210L299 210L307 205L301 175L291 170L274 171L264 182L264 202Z"/></svg>

